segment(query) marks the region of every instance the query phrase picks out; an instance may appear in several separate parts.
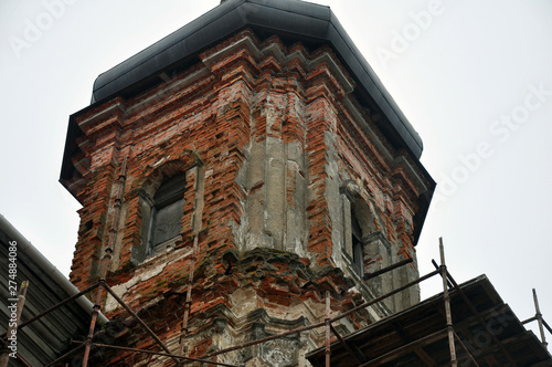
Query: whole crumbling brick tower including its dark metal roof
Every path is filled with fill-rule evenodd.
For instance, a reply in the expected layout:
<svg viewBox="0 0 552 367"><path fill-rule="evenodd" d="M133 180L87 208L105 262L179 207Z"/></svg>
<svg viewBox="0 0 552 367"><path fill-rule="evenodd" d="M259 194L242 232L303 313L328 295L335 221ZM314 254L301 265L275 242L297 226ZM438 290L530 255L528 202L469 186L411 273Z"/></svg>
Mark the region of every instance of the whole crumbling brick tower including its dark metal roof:
<svg viewBox="0 0 552 367"><path fill-rule="evenodd" d="M415 260L435 186L421 153L329 8L224 1L102 74L92 105L71 116L61 182L83 206L71 281L94 283L112 253L109 286L171 353L192 357L318 323L326 294L338 314L417 276L414 261L362 280ZM157 348L104 301L116 344ZM338 328L417 301L404 291ZM312 329L217 360L304 366L322 339Z"/></svg>

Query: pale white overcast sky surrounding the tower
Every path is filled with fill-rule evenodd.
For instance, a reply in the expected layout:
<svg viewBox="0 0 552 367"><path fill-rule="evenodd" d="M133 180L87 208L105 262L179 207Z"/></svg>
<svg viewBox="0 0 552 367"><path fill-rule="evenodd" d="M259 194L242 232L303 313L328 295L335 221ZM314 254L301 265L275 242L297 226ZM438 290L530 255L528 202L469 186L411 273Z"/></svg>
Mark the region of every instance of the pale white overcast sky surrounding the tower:
<svg viewBox="0 0 552 367"><path fill-rule="evenodd" d="M62 273L79 208L57 182L68 116L98 74L219 2L0 1L0 212ZM552 324L552 2L314 2L331 7L424 140L438 187L421 272L443 237L458 282L487 274L521 319L535 287Z"/></svg>

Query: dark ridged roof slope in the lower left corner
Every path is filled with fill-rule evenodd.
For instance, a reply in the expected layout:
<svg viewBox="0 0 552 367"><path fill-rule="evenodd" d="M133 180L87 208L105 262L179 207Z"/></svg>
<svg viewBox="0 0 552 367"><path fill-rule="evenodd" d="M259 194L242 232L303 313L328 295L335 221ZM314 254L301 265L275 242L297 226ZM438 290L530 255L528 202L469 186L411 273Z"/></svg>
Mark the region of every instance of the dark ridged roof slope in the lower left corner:
<svg viewBox="0 0 552 367"><path fill-rule="evenodd" d="M8 250L12 241L17 242L17 283L29 281L25 304L21 322L44 312L55 304L78 293L78 290L55 269L31 242L29 242L8 220L0 214L0 334L6 333L10 319L8 298L8 279L10 262ZM93 304L81 296L76 301L52 311L26 327L18 329L18 353L32 366L44 366L67 352L71 338L87 335ZM99 315L100 322L107 322ZM10 366L22 366L12 359Z"/></svg>

